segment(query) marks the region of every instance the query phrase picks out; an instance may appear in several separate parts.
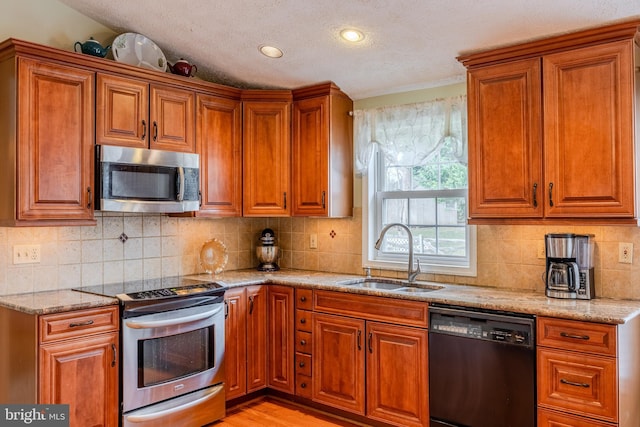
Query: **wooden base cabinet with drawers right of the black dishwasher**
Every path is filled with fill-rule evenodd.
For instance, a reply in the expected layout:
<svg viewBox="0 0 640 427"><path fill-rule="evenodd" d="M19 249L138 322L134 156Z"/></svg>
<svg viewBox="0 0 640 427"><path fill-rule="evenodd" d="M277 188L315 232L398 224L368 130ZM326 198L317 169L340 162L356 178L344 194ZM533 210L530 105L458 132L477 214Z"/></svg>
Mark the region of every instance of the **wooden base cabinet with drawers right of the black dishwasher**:
<svg viewBox="0 0 640 427"><path fill-rule="evenodd" d="M639 425L638 323L538 317L539 425Z"/></svg>

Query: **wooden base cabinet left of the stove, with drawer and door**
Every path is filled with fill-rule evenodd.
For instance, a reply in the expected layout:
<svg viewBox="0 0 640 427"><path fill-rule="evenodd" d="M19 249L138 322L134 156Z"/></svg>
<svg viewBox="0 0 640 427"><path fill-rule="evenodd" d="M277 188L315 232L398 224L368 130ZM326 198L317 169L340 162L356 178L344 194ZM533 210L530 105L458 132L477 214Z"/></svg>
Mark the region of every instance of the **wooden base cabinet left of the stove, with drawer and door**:
<svg viewBox="0 0 640 427"><path fill-rule="evenodd" d="M68 404L72 427L119 423L119 310L46 315L0 308L0 401Z"/></svg>

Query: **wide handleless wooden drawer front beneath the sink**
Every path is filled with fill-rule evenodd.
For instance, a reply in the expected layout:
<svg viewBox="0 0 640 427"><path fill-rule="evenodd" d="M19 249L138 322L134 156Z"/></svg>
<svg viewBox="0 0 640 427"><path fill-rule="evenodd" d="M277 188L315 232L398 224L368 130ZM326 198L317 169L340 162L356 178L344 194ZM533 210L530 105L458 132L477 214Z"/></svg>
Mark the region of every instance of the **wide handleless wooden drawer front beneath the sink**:
<svg viewBox="0 0 640 427"><path fill-rule="evenodd" d="M427 327L427 308L427 303L418 301L319 290L313 293L314 311L420 328Z"/></svg>

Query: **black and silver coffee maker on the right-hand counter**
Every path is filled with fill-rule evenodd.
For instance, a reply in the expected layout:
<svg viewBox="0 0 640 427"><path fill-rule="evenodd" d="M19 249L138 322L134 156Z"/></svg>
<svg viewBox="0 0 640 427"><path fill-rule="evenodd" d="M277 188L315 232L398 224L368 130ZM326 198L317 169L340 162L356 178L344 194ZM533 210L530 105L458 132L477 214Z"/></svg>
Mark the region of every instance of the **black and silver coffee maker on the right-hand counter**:
<svg viewBox="0 0 640 427"><path fill-rule="evenodd" d="M592 234L547 234L546 295L552 298L595 297Z"/></svg>

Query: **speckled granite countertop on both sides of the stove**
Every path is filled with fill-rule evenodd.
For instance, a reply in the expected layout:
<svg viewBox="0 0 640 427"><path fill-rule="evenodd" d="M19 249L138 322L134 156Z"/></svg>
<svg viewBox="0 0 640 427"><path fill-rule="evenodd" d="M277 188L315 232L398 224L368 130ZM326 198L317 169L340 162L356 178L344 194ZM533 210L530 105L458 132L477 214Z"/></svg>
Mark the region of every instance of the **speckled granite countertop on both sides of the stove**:
<svg viewBox="0 0 640 427"><path fill-rule="evenodd" d="M216 281L229 288L257 284L279 284L609 324L622 324L640 315L640 301L603 298L563 300L547 298L542 292L433 282L417 282L416 285L439 287L440 289L424 293L404 293L354 287L353 284L362 281L363 276L304 270L282 270L275 273L238 270L218 275L196 274L187 277ZM47 314L115 304L118 304L118 300L115 298L101 297L70 289L0 297L0 306L31 314Z"/></svg>

